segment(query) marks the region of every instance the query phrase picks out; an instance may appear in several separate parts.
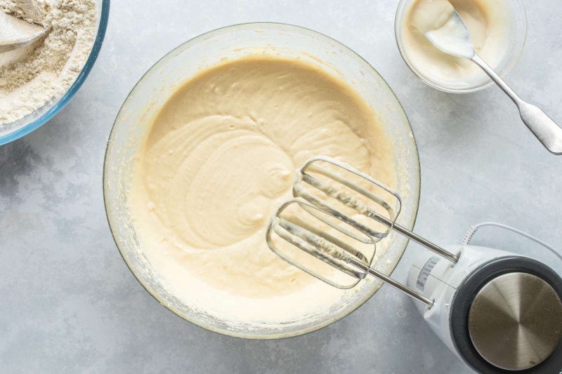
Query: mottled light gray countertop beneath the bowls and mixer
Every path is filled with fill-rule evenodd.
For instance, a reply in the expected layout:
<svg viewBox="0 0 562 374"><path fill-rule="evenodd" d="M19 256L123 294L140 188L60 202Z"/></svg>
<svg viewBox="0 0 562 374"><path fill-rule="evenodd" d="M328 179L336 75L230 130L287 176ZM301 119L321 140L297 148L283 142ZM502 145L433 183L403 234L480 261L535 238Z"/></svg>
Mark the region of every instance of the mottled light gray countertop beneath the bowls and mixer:
<svg viewBox="0 0 562 374"><path fill-rule="evenodd" d="M112 1L98 62L74 100L0 147L0 373L471 373L388 287L346 319L299 338L247 341L193 326L134 279L105 219L107 137L142 74L202 32L276 21L341 41L394 89L419 145L419 234L458 243L470 225L495 220L560 246L562 158L535 140L499 88L450 95L419 81L396 47L397 3ZM562 121L562 7L525 5L528 41L507 80ZM554 256L514 234L482 229L473 243L529 254L562 272ZM420 251L410 243L397 279Z"/></svg>

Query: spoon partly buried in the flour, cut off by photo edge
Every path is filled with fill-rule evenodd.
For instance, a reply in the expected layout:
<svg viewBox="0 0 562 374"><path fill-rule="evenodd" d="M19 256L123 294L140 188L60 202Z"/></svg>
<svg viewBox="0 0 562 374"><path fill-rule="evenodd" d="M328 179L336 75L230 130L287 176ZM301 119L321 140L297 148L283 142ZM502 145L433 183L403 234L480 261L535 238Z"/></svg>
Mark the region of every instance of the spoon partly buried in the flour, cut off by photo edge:
<svg viewBox="0 0 562 374"><path fill-rule="evenodd" d="M29 46L46 32L41 25L0 11L0 53Z"/></svg>

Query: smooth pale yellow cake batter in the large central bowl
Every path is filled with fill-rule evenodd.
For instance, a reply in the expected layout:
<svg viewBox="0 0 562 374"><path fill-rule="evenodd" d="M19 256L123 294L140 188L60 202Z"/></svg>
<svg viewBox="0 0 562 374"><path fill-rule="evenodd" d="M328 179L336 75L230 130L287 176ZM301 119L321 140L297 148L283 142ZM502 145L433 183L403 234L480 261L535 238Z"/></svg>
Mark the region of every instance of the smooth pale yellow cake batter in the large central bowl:
<svg viewBox="0 0 562 374"><path fill-rule="evenodd" d="M174 295L207 314L288 321L344 291L271 252L271 215L296 168L340 159L396 185L391 144L357 93L299 60L248 57L178 88L138 154L128 204L141 248Z"/></svg>

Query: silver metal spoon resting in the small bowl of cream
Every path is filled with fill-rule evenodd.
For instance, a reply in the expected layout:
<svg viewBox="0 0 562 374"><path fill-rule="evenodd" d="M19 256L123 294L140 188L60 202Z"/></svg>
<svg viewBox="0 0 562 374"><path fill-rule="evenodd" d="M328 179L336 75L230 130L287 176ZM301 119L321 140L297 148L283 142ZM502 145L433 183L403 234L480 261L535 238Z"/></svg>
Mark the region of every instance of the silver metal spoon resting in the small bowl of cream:
<svg viewBox="0 0 562 374"><path fill-rule="evenodd" d="M448 55L472 60L480 66L492 81L507 93L509 98L515 102L521 114L521 119L530 131L537 137L542 145L551 153L562 154L562 128L556 124L546 113L535 105L531 105L521 99L505 81L494 72L494 70L480 58L474 51L474 46L470 37L469 29L466 28L464 21L459 13L452 10L452 15L439 29L425 33L426 38L440 51Z"/></svg>

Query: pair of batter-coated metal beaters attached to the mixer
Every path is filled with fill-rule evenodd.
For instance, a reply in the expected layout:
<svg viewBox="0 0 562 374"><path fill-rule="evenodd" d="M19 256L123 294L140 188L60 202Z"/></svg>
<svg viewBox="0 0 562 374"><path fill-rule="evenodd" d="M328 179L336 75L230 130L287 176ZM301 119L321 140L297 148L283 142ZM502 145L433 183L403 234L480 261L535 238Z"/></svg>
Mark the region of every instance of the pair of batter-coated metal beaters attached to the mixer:
<svg viewBox="0 0 562 374"><path fill-rule="evenodd" d="M331 165L330 168L322 166L322 164L325 163L328 164L327 166ZM342 175L346 172L355 175L359 180L364 180L369 187L365 188L362 187L360 183L352 182L350 178L346 178ZM337 185L339 185L339 187L334 187ZM379 196L379 194L370 191L370 187L379 189L384 196L388 196L386 199L396 199L395 207L393 208L391 203L388 203L383 196ZM309 189L311 190L309 191ZM311 191L315 191L317 194L318 192L322 192L325 197L315 195ZM367 274L370 274L380 281L410 295L410 297L424 303L428 307L433 306L433 300L419 295L411 288L394 281L374 269L371 266L373 256L370 256L369 259L348 241L341 240L337 237L339 236L339 234L337 234L339 232L358 244L372 244L375 246L376 243L386 237L391 230L394 230L406 236L408 239L419 243L421 246L437 253L453 264L456 264L459 260L457 255L445 251L443 248L431 243L431 241L421 238L421 236L396 224L396 219L400 214L400 207L402 205L402 201L397 192L346 163L329 157L319 156L307 161L297 172L293 186L293 196L296 199L284 203L277 210L268 227L266 239L269 248L274 253L279 255L283 260L325 281L331 286L344 289L352 288L361 279L364 279ZM377 210L362 202L362 198L366 198L383 208L382 212L384 212L384 214L377 213ZM334 208L330 205L329 199L339 201L339 203L343 205L344 210L352 211L358 215L370 218L386 229L381 231L365 225L360 222L360 220L343 213L341 209ZM294 215L290 217L283 216L282 213L291 206L300 208L301 213L305 214L306 218L310 218L310 220L303 220ZM322 228L318 228L318 224L320 224ZM330 228L336 231L332 232ZM288 255L286 251L282 251L275 245L272 236L273 232L292 246L313 255L327 265L353 277L355 281L351 284L341 284L338 281L334 281L334 279L329 279L327 276L319 274L319 272L311 269L310 266L304 265L301 261L297 261L294 257Z"/></svg>

